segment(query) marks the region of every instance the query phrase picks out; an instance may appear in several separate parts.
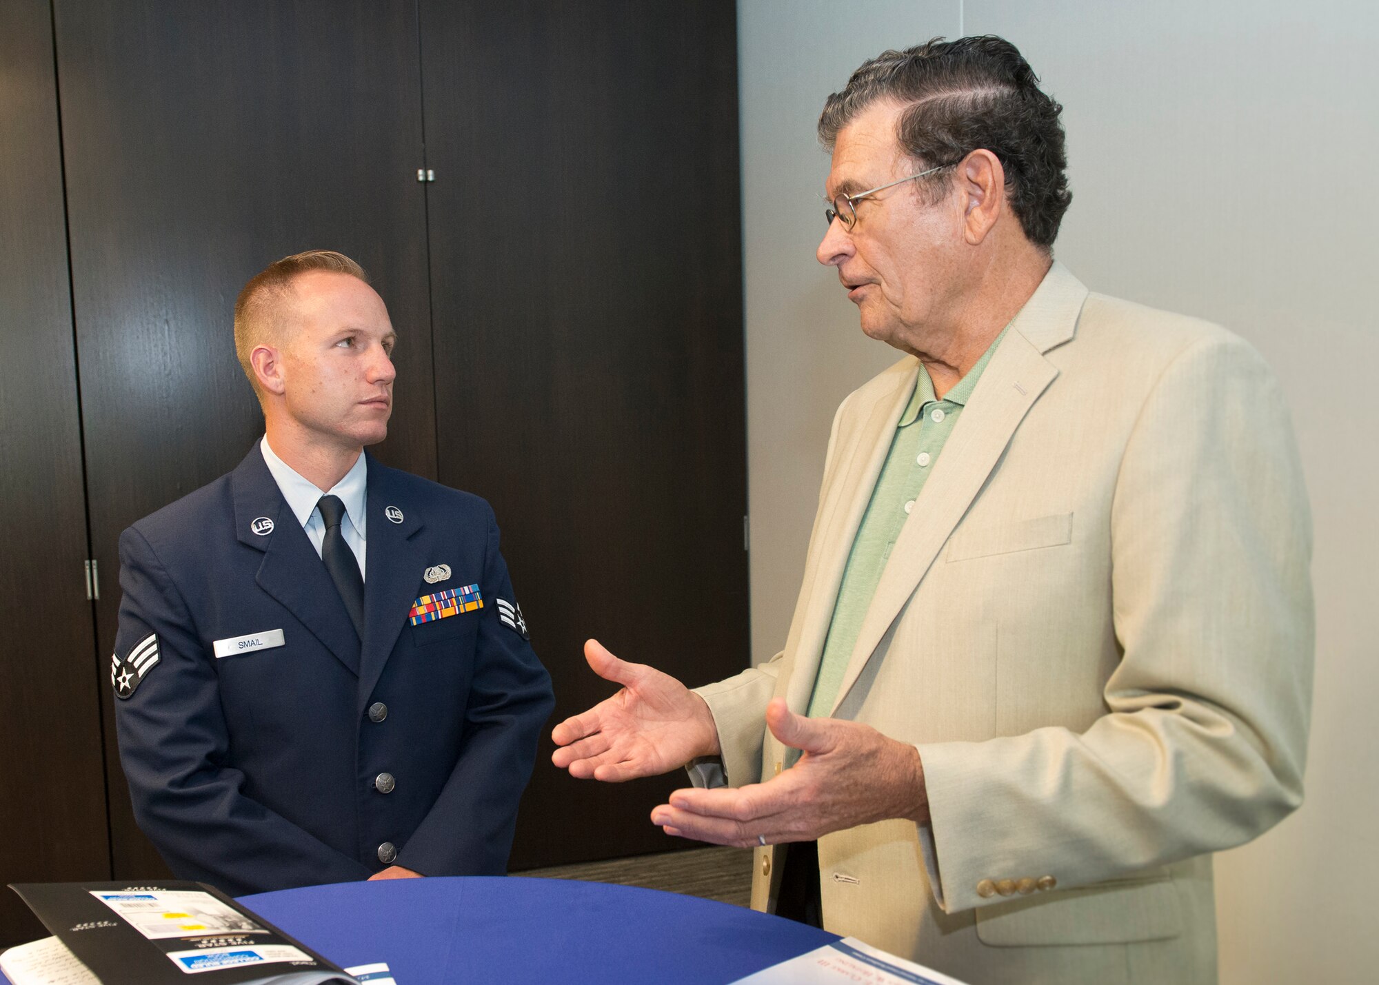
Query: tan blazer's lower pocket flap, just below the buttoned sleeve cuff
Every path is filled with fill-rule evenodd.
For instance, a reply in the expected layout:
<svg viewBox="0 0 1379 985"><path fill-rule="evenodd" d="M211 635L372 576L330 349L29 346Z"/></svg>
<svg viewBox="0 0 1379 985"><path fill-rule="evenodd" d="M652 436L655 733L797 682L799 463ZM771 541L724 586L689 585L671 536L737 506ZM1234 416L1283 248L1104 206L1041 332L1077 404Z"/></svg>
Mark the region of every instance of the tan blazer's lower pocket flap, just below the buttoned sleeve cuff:
<svg viewBox="0 0 1379 985"><path fill-rule="evenodd" d="M994 948L1164 941L1183 930L1171 879L1041 893L975 913L978 938Z"/></svg>

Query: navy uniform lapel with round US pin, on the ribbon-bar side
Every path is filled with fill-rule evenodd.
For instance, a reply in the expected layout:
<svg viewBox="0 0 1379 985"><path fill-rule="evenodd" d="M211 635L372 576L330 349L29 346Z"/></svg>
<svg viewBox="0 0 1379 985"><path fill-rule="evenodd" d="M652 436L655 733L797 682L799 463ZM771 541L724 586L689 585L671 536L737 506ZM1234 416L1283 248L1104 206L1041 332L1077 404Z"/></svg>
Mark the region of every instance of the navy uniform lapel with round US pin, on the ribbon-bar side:
<svg viewBox="0 0 1379 985"><path fill-rule="evenodd" d="M368 552L364 577L364 651L360 661L359 699L363 706L383 673L387 657L403 630L423 582L426 552L416 539L423 523L397 481L393 469L368 457ZM401 523L387 519L387 509L401 512Z"/></svg>

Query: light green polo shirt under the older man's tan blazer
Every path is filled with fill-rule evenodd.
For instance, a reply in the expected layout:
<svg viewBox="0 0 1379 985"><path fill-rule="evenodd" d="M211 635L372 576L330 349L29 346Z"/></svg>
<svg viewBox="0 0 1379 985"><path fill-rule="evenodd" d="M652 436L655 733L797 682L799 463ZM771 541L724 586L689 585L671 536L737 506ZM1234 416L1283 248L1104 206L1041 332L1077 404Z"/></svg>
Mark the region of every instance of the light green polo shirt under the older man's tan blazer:
<svg viewBox="0 0 1379 985"><path fill-rule="evenodd" d="M843 571L838 586L838 600L833 607L833 621L829 624L829 637L823 644L823 659L819 661L819 676L814 681L814 697L809 699L809 717L826 717L833 710L833 702L843 686L852 648L862 632L862 621L881 581L885 561L891 556L900 528L910 519L924 480L928 479L943 451L943 443L953 433L968 397L982 377L982 370L992 361L996 346L1005 338L1005 331L996 337L967 375L949 390L942 400L934 395L934 381L920 363L918 382L910 403L895 425L891 451L881 466L881 475L872 490L872 501L862 516L856 539L848 553L848 566Z"/></svg>

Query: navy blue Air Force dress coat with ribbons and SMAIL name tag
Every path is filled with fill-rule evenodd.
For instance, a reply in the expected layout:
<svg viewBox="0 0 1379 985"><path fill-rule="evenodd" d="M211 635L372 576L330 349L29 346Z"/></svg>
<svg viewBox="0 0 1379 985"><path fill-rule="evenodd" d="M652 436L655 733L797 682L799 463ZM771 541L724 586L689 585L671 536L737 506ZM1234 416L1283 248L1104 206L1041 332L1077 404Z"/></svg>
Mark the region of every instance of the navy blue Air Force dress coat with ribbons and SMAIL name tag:
<svg viewBox="0 0 1379 985"><path fill-rule="evenodd" d="M374 458L367 490L364 640L258 446L120 537L120 757L179 876L506 870L553 698L494 513ZM450 590L454 614L414 624Z"/></svg>

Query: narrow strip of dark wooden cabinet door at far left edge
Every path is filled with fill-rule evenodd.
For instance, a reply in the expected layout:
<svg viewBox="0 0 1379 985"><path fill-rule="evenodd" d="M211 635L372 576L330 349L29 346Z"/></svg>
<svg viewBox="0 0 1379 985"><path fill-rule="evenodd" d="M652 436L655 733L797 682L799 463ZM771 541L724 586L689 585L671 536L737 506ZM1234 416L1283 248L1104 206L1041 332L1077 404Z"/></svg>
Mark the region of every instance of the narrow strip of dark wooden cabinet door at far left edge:
<svg viewBox="0 0 1379 985"><path fill-rule="evenodd" d="M0 949L11 882L109 877L62 155L47 0L0 4Z"/></svg>

